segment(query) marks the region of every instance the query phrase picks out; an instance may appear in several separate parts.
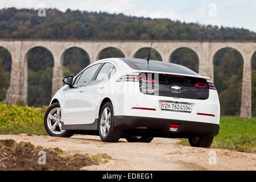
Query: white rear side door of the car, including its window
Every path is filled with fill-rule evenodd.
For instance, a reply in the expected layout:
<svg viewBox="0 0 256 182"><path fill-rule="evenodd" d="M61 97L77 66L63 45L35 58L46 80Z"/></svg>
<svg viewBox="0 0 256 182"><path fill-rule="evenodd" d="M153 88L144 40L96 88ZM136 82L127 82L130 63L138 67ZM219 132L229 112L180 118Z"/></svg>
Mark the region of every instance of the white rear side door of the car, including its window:
<svg viewBox="0 0 256 182"><path fill-rule="evenodd" d="M112 63L104 63L100 71L84 89L83 98L86 103L84 112L84 123L93 123L97 117L97 111L105 95L104 87L109 78L115 73Z"/></svg>

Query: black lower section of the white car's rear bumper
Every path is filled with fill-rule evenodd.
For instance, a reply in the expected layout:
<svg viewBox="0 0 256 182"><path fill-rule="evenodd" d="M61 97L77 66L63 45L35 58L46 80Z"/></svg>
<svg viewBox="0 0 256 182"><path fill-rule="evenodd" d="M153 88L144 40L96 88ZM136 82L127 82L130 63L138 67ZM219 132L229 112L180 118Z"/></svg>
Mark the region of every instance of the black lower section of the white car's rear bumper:
<svg viewBox="0 0 256 182"><path fill-rule="evenodd" d="M170 131L170 124L180 127L177 131ZM168 138L189 138L195 135L214 137L220 129L219 125L213 123L123 115L114 117L114 126L127 134Z"/></svg>

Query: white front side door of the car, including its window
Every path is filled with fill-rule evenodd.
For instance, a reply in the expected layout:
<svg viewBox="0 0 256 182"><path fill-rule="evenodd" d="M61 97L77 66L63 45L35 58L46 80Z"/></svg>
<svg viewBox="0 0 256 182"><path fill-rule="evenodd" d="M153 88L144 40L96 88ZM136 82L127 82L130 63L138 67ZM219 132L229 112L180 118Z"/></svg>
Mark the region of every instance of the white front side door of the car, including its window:
<svg viewBox="0 0 256 182"><path fill-rule="evenodd" d="M86 68L76 80L73 82L73 88L63 91L63 112L61 113L65 125L80 125L89 123L90 119L86 117L86 110L91 107L88 103L88 98L85 98L85 89L90 81L96 76L96 73L101 67L100 64L94 64Z"/></svg>

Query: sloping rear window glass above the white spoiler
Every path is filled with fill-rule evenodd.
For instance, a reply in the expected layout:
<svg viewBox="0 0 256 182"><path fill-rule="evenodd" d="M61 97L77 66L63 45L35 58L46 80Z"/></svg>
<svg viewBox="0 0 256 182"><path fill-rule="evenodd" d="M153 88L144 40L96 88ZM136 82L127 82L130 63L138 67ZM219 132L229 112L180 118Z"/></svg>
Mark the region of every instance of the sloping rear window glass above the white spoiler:
<svg viewBox="0 0 256 182"><path fill-rule="evenodd" d="M166 63L162 61L150 60L147 67L147 60L143 59L122 59L129 67L137 70L149 70L157 72L167 72L167 73L179 73L186 75L198 75L196 72L193 72L191 69L183 67L181 65ZM149 68L149 69L148 69Z"/></svg>

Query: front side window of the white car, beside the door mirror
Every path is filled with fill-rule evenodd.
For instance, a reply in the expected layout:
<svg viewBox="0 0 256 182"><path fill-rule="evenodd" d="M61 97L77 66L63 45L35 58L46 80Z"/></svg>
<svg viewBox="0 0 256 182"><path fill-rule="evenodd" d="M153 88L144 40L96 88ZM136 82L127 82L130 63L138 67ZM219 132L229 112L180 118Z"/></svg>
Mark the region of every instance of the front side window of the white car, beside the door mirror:
<svg viewBox="0 0 256 182"><path fill-rule="evenodd" d="M88 85L100 65L101 64L95 64L85 69L85 71L81 73L82 75L79 80L75 83L75 86Z"/></svg>

